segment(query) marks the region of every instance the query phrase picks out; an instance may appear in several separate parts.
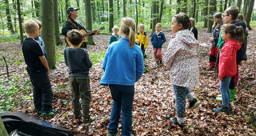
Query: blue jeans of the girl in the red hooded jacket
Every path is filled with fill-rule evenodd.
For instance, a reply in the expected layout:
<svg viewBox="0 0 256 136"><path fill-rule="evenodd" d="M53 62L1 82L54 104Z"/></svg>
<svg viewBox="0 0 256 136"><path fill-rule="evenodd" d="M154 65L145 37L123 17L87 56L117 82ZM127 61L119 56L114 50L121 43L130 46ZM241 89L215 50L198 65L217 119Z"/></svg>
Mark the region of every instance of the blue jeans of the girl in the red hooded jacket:
<svg viewBox="0 0 256 136"><path fill-rule="evenodd" d="M230 103L230 91L229 91L229 82L231 80L231 77L224 76L222 78L223 80L220 81L220 92L222 97L222 105L223 106L229 106L228 103Z"/></svg>

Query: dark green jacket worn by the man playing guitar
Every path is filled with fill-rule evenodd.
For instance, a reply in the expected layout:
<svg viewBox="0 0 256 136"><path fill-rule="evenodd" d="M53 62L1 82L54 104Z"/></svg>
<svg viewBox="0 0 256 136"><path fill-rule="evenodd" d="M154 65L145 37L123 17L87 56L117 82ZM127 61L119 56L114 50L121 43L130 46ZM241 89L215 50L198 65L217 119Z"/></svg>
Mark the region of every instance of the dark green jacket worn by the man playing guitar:
<svg viewBox="0 0 256 136"><path fill-rule="evenodd" d="M70 31L70 30L72 30L72 29L77 29L77 30L79 30L79 31L82 30L82 29L84 29L86 33L91 32L91 31L87 31L87 30L85 29L84 24L83 24L81 21L76 20L76 22L75 22L72 18L70 18L70 19L71 19L71 21L75 24L75 26L73 26L73 25L70 24L68 21L66 21L66 22L63 24L63 27L62 27L62 29L61 29L61 33L62 33L64 36L67 36L67 32ZM91 35L94 35L94 34L95 34L95 33L93 33L93 34L91 34ZM89 36L91 36L91 35L89 35ZM86 48L86 47L87 47L86 42L84 42L83 44L84 44L84 47ZM84 47L83 47L83 44L81 45L81 48L84 48Z"/></svg>

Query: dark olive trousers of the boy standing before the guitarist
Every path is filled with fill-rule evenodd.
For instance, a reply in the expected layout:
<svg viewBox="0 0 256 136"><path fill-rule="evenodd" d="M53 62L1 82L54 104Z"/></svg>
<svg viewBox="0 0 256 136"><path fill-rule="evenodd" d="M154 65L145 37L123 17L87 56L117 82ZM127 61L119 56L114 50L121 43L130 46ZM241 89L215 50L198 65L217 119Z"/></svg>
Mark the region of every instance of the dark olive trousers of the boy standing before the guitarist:
<svg viewBox="0 0 256 136"><path fill-rule="evenodd" d="M72 104L73 113L80 115L83 110L83 118L90 118L90 103L92 101L92 93L90 88L90 78L84 76L70 76L69 81L71 83L72 90ZM82 105L79 99L82 100Z"/></svg>

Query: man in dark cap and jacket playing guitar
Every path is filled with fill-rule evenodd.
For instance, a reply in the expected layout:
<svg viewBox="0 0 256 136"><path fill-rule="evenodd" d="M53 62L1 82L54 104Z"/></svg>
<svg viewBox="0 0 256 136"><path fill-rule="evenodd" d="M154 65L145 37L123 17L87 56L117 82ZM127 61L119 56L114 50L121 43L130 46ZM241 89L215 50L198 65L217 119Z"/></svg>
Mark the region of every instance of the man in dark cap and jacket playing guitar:
<svg viewBox="0 0 256 136"><path fill-rule="evenodd" d="M73 7L70 7L67 9L67 15L68 15L68 18L66 18L66 21L61 29L61 33L64 35L64 36L67 36L67 32L72 30L72 29L77 29L77 30L84 30L86 33L88 32L91 32L91 31L87 31L83 25L83 23L79 20L76 20L76 18L78 17L78 11L79 9L76 9L76 8L73 8ZM100 29L97 28L96 29L97 32L96 33L100 33ZM95 33L92 33L90 34L89 36L91 35L94 35ZM67 44L67 46L69 46ZM80 48L87 48L87 44L86 42L84 42Z"/></svg>

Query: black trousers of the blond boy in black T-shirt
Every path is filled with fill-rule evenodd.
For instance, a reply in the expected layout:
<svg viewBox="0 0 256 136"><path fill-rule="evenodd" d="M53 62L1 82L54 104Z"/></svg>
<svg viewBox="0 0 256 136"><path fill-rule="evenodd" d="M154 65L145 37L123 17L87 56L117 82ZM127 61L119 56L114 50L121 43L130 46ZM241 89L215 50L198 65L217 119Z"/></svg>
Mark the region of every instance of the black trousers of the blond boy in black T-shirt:
<svg viewBox="0 0 256 136"><path fill-rule="evenodd" d="M52 86L48 73L28 71L33 88L35 111L49 113L52 111Z"/></svg>

